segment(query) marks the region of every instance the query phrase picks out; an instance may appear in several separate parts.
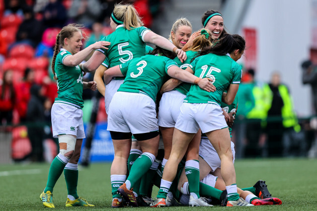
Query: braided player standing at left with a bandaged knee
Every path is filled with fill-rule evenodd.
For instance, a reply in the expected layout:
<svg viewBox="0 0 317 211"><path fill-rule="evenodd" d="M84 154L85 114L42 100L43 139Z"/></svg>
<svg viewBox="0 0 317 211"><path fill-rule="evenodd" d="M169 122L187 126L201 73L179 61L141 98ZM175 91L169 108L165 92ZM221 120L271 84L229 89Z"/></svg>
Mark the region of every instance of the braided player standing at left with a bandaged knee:
<svg viewBox="0 0 317 211"><path fill-rule="evenodd" d="M97 90L96 82L83 82L83 72L79 64L95 49L108 49L110 42L99 41L80 51L83 35L81 27L69 24L56 36L52 72L57 80L58 96L52 106L53 136L58 137L59 154L51 163L46 187L40 195L43 205L53 204L53 188L61 173L67 186L66 206L94 206L86 199L78 197L78 160L81 155L83 138L83 89Z"/></svg>

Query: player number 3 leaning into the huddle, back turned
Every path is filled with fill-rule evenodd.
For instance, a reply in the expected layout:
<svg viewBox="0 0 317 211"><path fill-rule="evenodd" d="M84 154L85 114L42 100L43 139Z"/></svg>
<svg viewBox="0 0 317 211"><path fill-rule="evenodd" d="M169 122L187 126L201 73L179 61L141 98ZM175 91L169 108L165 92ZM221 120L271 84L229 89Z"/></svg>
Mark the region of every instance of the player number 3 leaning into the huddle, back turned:
<svg viewBox="0 0 317 211"><path fill-rule="evenodd" d="M161 56L155 56L159 53ZM112 163L111 175L126 175L126 162L131 148L131 133L142 149L132 165L127 180L118 192L133 206L138 206L132 188L151 167L159 147L159 126L157 124L155 97L168 76L187 83L198 84L208 92L214 90L211 79L199 79L179 68L170 51L156 47L150 54L134 58L126 63L109 68L105 84L112 77L125 76L123 84L110 103L108 128L113 139L115 155L121 155L120 163ZM168 58L168 57L170 58ZM114 184L112 184L114 185Z"/></svg>

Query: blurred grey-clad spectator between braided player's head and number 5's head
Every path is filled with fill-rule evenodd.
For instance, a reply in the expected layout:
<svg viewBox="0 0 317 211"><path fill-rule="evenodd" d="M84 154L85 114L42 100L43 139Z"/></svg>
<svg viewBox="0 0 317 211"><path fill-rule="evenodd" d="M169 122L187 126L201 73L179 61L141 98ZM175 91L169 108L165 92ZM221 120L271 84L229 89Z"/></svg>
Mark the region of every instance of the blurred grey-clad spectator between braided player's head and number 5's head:
<svg viewBox="0 0 317 211"><path fill-rule="evenodd" d="M68 10L71 22L84 24L86 28L91 28L100 15L101 4L99 0L73 0Z"/></svg>

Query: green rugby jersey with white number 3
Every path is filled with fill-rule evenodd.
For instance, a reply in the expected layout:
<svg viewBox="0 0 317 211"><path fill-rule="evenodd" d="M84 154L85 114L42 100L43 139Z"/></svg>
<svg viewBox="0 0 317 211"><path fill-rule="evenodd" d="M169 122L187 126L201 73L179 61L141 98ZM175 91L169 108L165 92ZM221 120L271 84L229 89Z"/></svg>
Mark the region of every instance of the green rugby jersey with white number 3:
<svg viewBox="0 0 317 211"><path fill-rule="evenodd" d="M168 68L176 62L165 56L144 55L120 64L125 76L118 92L144 93L155 101L157 93L168 79Z"/></svg>

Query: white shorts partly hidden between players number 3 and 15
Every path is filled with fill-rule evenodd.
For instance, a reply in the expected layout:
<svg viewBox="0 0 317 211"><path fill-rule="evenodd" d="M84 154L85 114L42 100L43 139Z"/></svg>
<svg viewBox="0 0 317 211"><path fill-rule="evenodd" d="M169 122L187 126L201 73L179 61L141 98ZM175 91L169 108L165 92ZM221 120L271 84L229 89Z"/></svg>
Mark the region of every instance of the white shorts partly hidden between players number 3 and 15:
<svg viewBox="0 0 317 211"><path fill-rule="evenodd" d="M160 101L159 125L161 127L175 127L186 95L177 90L165 92Z"/></svg>

